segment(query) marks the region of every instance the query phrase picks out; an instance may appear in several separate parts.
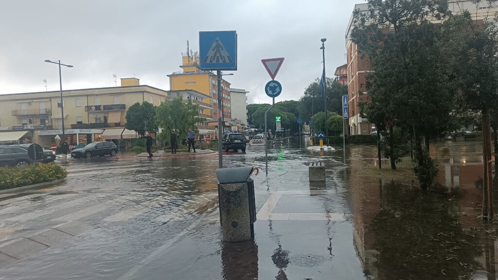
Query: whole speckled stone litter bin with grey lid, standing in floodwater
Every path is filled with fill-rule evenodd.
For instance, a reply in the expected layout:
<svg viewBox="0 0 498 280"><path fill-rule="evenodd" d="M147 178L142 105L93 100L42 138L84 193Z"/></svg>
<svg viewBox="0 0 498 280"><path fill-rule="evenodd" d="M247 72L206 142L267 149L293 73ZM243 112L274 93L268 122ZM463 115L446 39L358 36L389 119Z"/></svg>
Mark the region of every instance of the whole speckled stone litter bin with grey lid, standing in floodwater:
<svg viewBox="0 0 498 280"><path fill-rule="evenodd" d="M247 241L254 235L256 203L254 181L249 178L252 170L253 167L216 170L223 241Z"/></svg>

